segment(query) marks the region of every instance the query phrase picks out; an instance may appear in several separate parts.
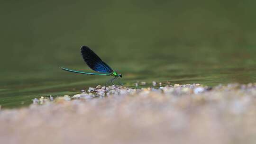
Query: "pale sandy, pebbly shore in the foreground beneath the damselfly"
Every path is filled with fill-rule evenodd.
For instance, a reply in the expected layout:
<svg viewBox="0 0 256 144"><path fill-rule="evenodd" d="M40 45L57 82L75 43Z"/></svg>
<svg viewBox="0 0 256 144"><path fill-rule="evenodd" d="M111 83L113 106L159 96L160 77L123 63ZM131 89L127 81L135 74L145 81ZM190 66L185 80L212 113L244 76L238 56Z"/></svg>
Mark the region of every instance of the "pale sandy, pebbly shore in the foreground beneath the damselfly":
<svg viewBox="0 0 256 144"><path fill-rule="evenodd" d="M256 144L256 84L90 88L0 110L0 144Z"/></svg>

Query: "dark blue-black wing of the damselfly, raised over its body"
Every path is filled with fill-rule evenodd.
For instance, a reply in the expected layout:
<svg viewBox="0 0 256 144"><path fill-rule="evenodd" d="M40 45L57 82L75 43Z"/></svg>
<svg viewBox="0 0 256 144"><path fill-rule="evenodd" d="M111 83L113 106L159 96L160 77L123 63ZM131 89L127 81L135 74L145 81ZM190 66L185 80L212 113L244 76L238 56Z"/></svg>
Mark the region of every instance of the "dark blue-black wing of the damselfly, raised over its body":
<svg viewBox="0 0 256 144"><path fill-rule="evenodd" d="M104 63L101 58L95 54L88 46L81 47L81 54L84 62L94 71L111 73L113 70L107 63Z"/></svg>

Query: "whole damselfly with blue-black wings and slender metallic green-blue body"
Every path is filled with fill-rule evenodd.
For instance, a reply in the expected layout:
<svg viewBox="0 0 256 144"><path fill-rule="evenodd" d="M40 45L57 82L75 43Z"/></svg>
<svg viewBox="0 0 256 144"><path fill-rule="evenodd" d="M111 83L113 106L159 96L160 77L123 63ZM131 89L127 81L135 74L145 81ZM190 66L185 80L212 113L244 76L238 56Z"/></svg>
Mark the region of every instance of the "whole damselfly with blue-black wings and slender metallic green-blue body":
<svg viewBox="0 0 256 144"><path fill-rule="evenodd" d="M81 47L81 54L84 62L87 63L87 65L92 70L96 72L101 72L101 73L80 72L80 71L74 71L66 68L61 68L61 69L68 72L90 74L90 75L111 75L111 76L114 76L114 78L110 80L112 84L114 84L113 81L115 79L122 78L122 74L118 74L117 72L113 71L110 68L110 66L107 63L103 62L101 58L97 54L95 54L88 46Z"/></svg>

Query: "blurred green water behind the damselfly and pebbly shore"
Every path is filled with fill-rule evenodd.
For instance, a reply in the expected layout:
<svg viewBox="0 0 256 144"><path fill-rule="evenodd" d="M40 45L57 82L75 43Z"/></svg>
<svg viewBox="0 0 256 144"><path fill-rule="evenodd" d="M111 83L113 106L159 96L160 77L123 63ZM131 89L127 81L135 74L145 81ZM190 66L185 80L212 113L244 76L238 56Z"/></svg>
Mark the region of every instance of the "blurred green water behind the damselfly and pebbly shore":
<svg viewBox="0 0 256 144"><path fill-rule="evenodd" d="M104 85L80 56L88 45L137 81L256 82L255 0L14 0L0 5L0 105Z"/></svg>

